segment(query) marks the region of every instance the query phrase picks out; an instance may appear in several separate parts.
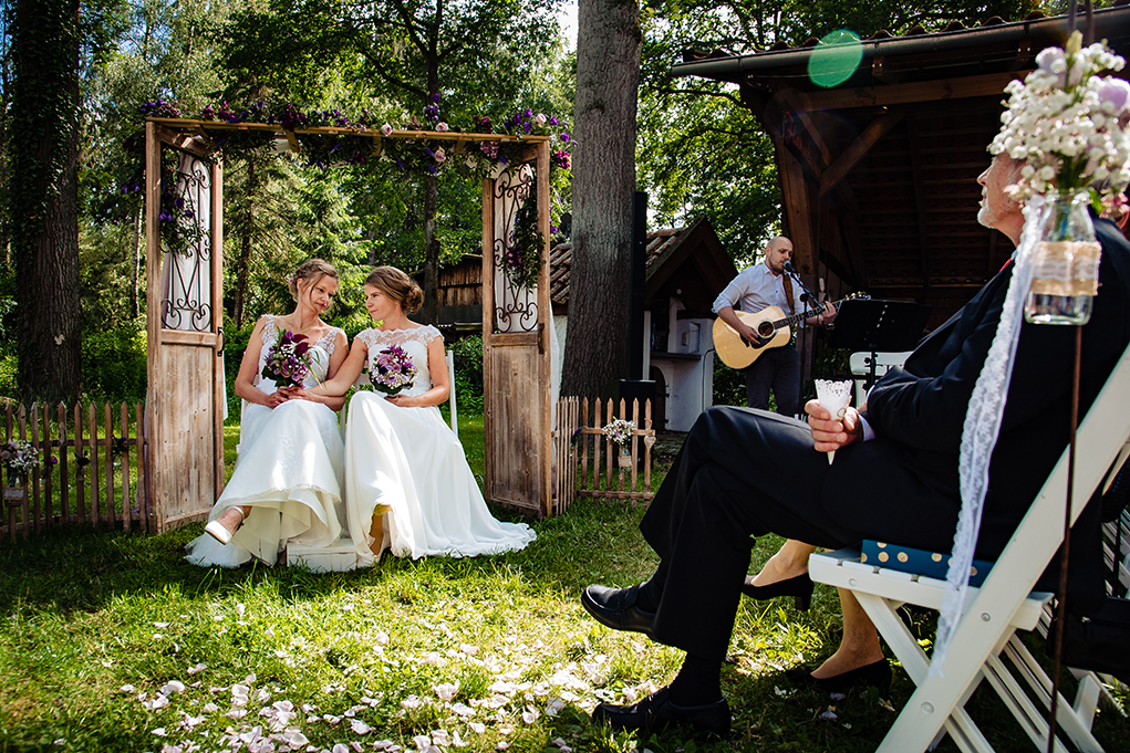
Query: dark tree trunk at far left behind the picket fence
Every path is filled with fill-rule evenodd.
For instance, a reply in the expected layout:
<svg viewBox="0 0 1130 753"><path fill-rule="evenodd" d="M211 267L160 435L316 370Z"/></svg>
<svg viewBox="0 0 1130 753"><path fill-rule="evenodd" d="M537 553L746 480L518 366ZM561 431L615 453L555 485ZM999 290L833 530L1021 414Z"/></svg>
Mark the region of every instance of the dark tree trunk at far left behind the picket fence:
<svg viewBox="0 0 1130 753"><path fill-rule="evenodd" d="M78 0L18 0L12 94L18 379L24 401L81 388Z"/></svg>

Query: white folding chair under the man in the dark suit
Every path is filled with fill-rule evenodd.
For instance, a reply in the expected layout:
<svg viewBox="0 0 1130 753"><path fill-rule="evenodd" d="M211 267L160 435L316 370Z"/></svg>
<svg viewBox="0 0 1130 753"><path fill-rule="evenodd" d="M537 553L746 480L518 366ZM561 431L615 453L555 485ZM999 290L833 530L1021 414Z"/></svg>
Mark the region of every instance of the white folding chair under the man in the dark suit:
<svg viewBox="0 0 1130 753"><path fill-rule="evenodd" d="M1130 437L1128 394L1130 349L1123 352L1079 427L1072 522L1103 482ZM940 737L942 729L962 751L992 751L992 745L964 708L982 678L989 681L1033 744L1044 748L1048 739L1045 713L1035 706L1001 656L1007 656L1016 665L1020 678L1046 707L1051 681L1015 633L1017 630L1034 629L1052 597L1032 589L1062 540L1062 526L1050 522L1063 519L1067 475L1068 457L1064 450L988 578L980 588L970 588L962 620L955 628L949 653L940 667L940 676L928 676L930 658L895 610L904 603L940 607L944 580L860 562L859 552L854 550L809 558L812 580L851 590L918 685L879 746L880 753L925 751ZM1097 691L1090 692L1097 697ZM1057 707L1057 725L1078 750L1099 753L1103 747L1090 733L1094 701L1083 699L1079 707L1077 709L1061 697ZM1055 741L1055 751L1066 751L1059 739Z"/></svg>

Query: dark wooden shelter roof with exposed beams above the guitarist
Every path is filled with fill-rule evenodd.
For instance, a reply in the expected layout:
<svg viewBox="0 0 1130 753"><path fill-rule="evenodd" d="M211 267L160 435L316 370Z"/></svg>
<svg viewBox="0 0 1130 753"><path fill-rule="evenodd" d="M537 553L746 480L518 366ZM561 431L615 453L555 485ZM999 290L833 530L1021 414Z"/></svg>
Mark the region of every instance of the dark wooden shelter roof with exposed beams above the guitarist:
<svg viewBox="0 0 1130 753"><path fill-rule="evenodd" d="M1095 38L1130 50L1130 7L1094 18ZM1064 16L884 32L862 42L859 68L832 88L808 76L815 40L744 55L689 54L673 71L740 86L742 104L774 142L783 225L801 273L931 304L937 324L1011 252L1003 236L977 225L976 176L1000 128L1005 85L1067 36Z"/></svg>

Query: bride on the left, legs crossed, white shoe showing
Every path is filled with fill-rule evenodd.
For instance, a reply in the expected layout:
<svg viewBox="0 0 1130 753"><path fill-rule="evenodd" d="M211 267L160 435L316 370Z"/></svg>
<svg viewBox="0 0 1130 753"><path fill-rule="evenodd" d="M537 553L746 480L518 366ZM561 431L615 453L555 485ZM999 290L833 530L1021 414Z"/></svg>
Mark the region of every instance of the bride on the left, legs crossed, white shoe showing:
<svg viewBox="0 0 1130 753"><path fill-rule="evenodd" d="M325 546L341 534L345 448L338 415L342 397L297 395L276 389L262 376L267 352L289 330L306 335L310 374L305 386L332 378L346 360L345 332L321 315L338 290L329 263L303 262L290 279L297 303L287 316L255 324L235 378L244 401L240 455L231 481L208 516L206 533L189 544L185 559L201 566L238 567L252 557L275 564L288 542Z"/></svg>

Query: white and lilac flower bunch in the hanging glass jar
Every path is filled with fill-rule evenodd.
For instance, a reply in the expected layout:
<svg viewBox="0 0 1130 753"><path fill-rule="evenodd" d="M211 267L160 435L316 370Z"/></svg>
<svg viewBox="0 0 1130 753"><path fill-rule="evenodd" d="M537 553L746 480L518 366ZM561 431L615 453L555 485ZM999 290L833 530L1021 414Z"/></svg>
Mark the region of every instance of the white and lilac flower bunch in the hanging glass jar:
<svg viewBox="0 0 1130 753"><path fill-rule="evenodd" d="M1076 30L1063 49L1042 50L1024 81L1005 87L1008 110L989 151L1027 161L1009 187L1014 199L1050 190L1094 192L1096 183L1121 186L1130 180L1130 82L1099 76L1124 64L1103 43L1084 47Z"/></svg>

